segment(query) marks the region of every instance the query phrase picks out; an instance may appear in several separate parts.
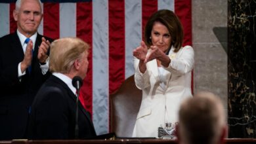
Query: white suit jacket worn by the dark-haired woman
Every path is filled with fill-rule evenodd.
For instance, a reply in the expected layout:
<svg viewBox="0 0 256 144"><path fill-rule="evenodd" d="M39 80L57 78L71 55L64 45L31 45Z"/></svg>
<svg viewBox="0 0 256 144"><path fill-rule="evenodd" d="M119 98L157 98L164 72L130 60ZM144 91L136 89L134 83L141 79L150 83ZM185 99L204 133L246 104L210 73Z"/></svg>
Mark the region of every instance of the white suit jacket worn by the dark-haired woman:
<svg viewBox="0 0 256 144"><path fill-rule="evenodd" d="M133 137L158 137L158 127L164 128L165 122L175 124L180 103L192 96L194 50L191 46L184 46L179 52L173 50L172 47L169 52L171 62L164 68L165 88L160 86L156 60L146 63L145 73L140 73L139 60L135 58L135 84L142 90L142 102Z"/></svg>

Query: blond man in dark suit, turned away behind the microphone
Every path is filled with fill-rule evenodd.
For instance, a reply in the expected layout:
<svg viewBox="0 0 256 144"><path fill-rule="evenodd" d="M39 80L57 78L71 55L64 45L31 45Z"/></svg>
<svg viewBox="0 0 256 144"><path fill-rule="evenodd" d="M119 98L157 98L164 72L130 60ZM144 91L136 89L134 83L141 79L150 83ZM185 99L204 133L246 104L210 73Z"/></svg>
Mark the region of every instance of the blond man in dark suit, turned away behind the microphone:
<svg viewBox="0 0 256 144"><path fill-rule="evenodd" d="M85 139L95 137L90 115L78 101L78 137L75 137L75 76L85 78L89 45L78 38L51 44L49 67L53 75L41 86L32 104L30 139Z"/></svg>

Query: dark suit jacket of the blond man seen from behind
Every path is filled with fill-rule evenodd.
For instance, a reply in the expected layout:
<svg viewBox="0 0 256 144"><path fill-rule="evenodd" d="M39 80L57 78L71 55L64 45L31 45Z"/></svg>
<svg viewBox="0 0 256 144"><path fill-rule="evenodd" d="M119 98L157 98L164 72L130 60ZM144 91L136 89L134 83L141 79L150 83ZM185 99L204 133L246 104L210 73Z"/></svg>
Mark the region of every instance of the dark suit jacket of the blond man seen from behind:
<svg viewBox="0 0 256 144"><path fill-rule="evenodd" d="M95 137L90 115L78 103L79 139ZM68 86L52 75L40 88L32 104L30 139L75 139L76 97Z"/></svg>

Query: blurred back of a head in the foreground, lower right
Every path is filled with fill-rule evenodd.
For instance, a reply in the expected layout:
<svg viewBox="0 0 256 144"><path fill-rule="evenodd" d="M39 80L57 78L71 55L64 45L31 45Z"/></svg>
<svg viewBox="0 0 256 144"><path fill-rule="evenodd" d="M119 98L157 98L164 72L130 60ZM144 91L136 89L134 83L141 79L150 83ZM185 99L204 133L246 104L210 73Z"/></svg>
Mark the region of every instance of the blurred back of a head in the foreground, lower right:
<svg viewBox="0 0 256 144"><path fill-rule="evenodd" d="M226 116L218 96L200 92L184 100L179 111L179 141L187 144L223 143Z"/></svg>

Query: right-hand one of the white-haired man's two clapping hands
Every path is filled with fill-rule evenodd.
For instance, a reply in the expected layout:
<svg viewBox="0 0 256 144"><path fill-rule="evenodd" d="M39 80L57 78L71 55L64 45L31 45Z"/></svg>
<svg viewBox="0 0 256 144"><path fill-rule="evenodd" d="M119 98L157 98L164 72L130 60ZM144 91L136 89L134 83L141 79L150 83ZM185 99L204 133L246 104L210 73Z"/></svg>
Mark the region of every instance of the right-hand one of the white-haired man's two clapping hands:
<svg viewBox="0 0 256 144"><path fill-rule="evenodd" d="M51 43L45 39L45 37L42 37L42 43L38 48L38 54L37 58L40 63L44 63L45 60L47 59L47 52L49 50Z"/></svg>

